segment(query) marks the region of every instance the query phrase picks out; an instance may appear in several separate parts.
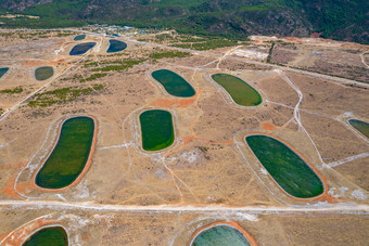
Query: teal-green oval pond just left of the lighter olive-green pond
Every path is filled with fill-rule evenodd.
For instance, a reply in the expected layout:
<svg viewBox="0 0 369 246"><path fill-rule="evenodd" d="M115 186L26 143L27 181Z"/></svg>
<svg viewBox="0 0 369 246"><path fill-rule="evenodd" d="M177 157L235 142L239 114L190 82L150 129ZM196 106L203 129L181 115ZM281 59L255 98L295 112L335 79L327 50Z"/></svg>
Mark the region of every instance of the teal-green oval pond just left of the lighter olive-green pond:
<svg viewBox="0 0 369 246"><path fill-rule="evenodd" d="M191 98L196 93L190 83L171 70L155 70L151 75L162 83L165 90L171 95Z"/></svg>

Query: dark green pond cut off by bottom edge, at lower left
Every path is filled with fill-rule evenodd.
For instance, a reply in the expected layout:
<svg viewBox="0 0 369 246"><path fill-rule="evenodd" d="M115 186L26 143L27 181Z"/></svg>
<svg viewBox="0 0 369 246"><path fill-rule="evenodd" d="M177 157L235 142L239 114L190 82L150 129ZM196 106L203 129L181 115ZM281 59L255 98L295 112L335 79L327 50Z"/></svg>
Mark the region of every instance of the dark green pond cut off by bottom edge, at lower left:
<svg viewBox="0 0 369 246"><path fill-rule="evenodd" d="M62 226L44 228L31 235L23 246L66 246L68 236Z"/></svg>

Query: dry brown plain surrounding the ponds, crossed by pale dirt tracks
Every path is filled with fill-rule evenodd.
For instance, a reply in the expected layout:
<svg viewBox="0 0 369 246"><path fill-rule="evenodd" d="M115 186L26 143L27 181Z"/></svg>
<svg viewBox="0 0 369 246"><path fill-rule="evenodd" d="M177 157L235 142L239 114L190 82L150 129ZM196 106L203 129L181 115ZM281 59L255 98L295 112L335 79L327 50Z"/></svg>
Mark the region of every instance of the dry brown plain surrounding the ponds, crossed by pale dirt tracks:
<svg viewBox="0 0 369 246"><path fill-rule="evenodd" d="M369 46L255 36L195 51L169 31L115 37L127 49L106 53L110 37L85 30L74 41L80 33L0 33L0 67L10 68L0 78L0 245L21 245L47 224L63 225L71 245L189 245L218 221L237 222L258 245L367 244L369 140L348 120L369 122ZM86 54L69 55L90 41ZM40 66L53 76L36 80ZM151 77L164 68L196 94L168 94ZM215 73L243 79L263 103L236 104ZM174 115L168 148L142 148L148 108ZM97 119L91 163L74 185L41 190L35 176L73 116ZM323 194L298 199L276 185L244 142L251 133L304 156Z"/></svg>

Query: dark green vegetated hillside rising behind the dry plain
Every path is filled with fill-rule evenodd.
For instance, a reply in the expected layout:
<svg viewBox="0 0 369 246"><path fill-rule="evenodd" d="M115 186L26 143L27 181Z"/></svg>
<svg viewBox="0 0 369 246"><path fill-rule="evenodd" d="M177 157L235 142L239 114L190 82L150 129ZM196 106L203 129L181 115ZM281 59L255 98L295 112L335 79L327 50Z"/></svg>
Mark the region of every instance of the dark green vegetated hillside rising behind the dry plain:
<svg viewBox="0 0 369 246"><path fill-rule="evenodd" d="M181 33L245 38L308 36L369 42L367 0L2 0L2 10L39 15L8 26L109 23L167 26ZM0 21L2 21L0 18Z"/></svg>

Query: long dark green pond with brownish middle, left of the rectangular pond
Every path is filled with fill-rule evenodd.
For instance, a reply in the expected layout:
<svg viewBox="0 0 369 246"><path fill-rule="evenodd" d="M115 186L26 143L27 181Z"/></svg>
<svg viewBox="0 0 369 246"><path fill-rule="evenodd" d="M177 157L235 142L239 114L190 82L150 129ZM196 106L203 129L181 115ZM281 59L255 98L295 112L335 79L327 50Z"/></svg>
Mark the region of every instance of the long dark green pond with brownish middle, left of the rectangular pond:
<svg viewBox="0 0 369 246"><path fill-rule="evenodd" d="M86 166L93 133L92 118L79 116L67 119L62 126L56 146L36 176L36 184L44 189L72 184Z"/></svg>

